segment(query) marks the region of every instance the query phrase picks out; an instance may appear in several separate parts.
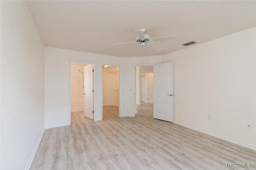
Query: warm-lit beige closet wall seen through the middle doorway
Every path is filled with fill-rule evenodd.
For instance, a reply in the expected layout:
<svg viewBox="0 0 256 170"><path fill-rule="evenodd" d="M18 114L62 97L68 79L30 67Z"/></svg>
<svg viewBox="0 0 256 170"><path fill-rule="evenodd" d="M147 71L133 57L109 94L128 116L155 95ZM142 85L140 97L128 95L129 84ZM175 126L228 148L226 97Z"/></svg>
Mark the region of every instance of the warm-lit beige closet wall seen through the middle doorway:
<svg viewBox="0 0 256 170"><path fill-rule="evenodd" d="M110 73L119 70L118 67L103 67L103 106L119 106L119 95L115 90L119 90L118 74Z"/></svg>

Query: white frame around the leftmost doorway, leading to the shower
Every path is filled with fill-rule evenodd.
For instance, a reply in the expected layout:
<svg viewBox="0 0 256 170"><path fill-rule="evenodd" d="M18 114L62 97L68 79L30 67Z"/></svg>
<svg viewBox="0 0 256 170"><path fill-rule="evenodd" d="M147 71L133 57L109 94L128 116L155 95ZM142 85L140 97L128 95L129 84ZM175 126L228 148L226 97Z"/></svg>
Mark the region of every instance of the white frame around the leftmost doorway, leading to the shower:
<svg viewBox="0 0 256 170"><path fill-rule="evenodd" d="M71 125L71 91L70 91L70 81L71 81L71 63L84 63L84 64L92 64L93 69L96 70L96 63L92 61L84 61L84 60L69 60L68 61L68 125ZM93 89L95 89L95 72L93 72ZM93 107L95 109L95 93L93 93ZM95 114L93 115L93 120L95 120Z"/></svg>

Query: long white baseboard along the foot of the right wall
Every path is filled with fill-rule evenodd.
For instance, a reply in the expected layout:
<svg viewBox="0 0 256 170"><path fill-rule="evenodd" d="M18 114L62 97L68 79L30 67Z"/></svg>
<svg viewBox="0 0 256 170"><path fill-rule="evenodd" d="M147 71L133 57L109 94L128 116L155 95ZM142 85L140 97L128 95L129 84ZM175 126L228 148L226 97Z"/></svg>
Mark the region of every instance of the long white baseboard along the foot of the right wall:
<svg viewBox="0 0 256 170"><path fill-rule="evenodd" d="M181 122L176 122L174 121L174 123L178 124L178 125L181 125L181 126L184 126L184 127L187 127L187 128L191 128L193 130L197 130L199 132L203 132L203 133L206 133L206 134L209 134L211 136L214 136L214 137L217 137L217 138L221 138L223 140L227 140L228 142L232 142L234 144L239 144L241 146L244 146L246 148L250 148L252 150L256 150L256 146L252 145L252 144L248 144L246 142L242 142L242 141L239 141L239 140L236 140L234 138L230 138L230 137L227 137L227 136L224 136L222 134L218 134L218 133L214 133L214 132L210 132L208 130L204 130L202 128L196 128L196 127L193 127L193 126L190 126L190 125L187 125L185 123L181 123Z"/></svg>

